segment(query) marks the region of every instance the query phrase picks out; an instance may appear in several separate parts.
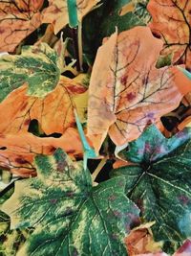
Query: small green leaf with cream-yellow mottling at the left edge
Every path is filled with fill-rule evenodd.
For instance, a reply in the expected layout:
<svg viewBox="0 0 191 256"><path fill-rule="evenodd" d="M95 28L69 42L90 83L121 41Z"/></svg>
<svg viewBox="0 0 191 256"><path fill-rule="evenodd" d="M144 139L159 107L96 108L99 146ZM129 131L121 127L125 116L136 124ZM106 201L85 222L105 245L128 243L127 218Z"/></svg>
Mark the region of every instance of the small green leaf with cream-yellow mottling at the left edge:
<svg viewBox="0 0 191 256"><path fill-rule="evenodd" d="M0 102L13 90L29 84L28 95L44 97L59 81L58 56L48 44L24 46L21 55L0 58Z"/></svg>

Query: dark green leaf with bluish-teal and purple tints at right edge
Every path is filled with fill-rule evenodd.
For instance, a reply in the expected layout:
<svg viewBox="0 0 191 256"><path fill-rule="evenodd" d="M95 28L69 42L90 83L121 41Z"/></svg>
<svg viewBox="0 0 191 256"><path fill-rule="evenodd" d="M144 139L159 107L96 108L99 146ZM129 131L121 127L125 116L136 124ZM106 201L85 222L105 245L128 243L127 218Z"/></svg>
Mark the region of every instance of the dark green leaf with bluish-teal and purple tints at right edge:
<svg viewBox="0 0 191 256"><path fill-rule="evenodd" d="M138 203L157 241L183 242L191 236L191 129L166 139L146 128L124 151L134 163L114 171L126 177L127 196Z"/></svg>

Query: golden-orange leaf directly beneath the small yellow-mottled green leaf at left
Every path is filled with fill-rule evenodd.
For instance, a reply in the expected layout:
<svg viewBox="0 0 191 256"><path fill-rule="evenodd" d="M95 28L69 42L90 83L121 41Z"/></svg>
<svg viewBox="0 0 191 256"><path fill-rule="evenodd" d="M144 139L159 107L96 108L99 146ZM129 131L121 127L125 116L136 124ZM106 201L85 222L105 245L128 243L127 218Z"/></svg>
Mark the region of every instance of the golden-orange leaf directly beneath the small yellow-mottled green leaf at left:
<svg viewBox="0 0 191 256"><path fill-rule="evenodd" d="M46 134L63 134L67 128L75 126L75 100L84 95L85 87L61 77L53 92L44 98L27 96L26 91L27 85L19 87L0 105L0 133L27 131L33 119Z"/></svg>

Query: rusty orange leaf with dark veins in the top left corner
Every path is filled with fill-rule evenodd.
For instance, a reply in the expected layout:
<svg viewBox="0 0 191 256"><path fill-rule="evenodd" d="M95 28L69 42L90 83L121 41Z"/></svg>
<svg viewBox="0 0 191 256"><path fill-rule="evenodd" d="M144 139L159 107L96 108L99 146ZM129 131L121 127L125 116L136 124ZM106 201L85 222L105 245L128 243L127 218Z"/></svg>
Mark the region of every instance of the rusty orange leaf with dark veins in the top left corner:
<svg viewBox="0 0 191 256"><path fill-rule="evenodd" d="M16 46L41 24L44 0L0 1L0 51L13 52Z"/></svg>

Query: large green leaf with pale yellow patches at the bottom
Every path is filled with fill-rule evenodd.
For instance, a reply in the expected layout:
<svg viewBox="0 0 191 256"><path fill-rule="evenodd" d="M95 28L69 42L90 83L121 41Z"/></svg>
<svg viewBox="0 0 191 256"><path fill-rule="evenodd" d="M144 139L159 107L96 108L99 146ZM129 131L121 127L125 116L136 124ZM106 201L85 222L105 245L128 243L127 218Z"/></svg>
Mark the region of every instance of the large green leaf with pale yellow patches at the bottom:
<svg viewBox="0 0 191 256"><path fill-rule="evenodd" d="M17 181L2 208L11 228L35 227L18 256L127 255L123 239L138 208L124 195L123 177L92 187L82 162L60 149L36 156L35 165L38 176Z"/></svg>

